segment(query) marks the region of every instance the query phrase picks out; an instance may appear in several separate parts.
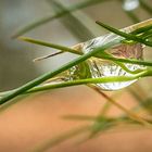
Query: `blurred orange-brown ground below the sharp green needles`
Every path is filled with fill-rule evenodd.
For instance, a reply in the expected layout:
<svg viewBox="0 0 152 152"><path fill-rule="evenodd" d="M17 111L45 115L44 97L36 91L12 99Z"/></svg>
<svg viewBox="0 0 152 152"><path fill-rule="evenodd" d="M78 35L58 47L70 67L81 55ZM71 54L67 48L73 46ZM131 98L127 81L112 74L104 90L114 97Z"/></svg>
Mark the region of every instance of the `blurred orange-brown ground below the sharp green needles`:
<svg viewBox="0 0 152 152"><path fill-rule="evenodd" d="M125 99L125 101L124 101ZM87 87L74 87L27 97L0 114L0 152L27 152L47 139L86 123L65 121L68 114L96 115L104 99ZM136 102L126 92L118 102L128 109ZM134 103L132 103L134 102ZM121 114L112 107L110 115ZM83 144L76 140L56 145L51 152L151 152L152 131L128 130L103 134Z"/></svg>

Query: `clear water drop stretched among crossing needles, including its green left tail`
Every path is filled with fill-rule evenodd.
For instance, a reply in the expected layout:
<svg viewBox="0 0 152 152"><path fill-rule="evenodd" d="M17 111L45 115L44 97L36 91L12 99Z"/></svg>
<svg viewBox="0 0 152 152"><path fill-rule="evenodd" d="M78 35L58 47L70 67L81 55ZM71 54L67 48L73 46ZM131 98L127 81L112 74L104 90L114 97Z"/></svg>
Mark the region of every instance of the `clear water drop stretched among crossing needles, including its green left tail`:
<svg viewBox="0 0 152 152"><path fill-rule="evenodd" d="M147 21L147 23L151 23L151 21ZM147 25L145 22L139 23L132 26L129 26L127 28L122 29L126 33L131 33L132 30L142 27ZM92 51L96 48L102 47L112 40L117 39L119 36L115 34L107 34L103 35L101 37L91 39L87 42L78 43L73 47L73 49L78 50L83 53L88 53ZM135 59L135 60L143 60L143 51L144 46L139 42L134 43L125 43L122 42L117 46L114 46L111 49L105 50L106 53L111 54L114 58L118 59ZM83 71L86 72L85 66L87 69L89 69L90 75L81 74ZM142 65L137 64L129 64L129 63L123 63L129 71L135 72L138 69L144 69ZM83 66L81 66L83 65ZM81 78L104 78L104 77L111 77L111 76L132 76L134 74L126 72L124 68L122 68L119 65L114 63L113 61L107 61L99 58L90 58L86 62L83 62L68 71L66 71L64 74L61 75L61 81L68 81L68 80L75 80L75 79L81 79ZM60 78L60 76L59 76ZM130 81L119 81L119 83L101 83L97 84L97 86L102 90L118 90L122 88L125 88L132 83L137 81L130 80ZM59 83L59 79L58 79Z"/></svg>

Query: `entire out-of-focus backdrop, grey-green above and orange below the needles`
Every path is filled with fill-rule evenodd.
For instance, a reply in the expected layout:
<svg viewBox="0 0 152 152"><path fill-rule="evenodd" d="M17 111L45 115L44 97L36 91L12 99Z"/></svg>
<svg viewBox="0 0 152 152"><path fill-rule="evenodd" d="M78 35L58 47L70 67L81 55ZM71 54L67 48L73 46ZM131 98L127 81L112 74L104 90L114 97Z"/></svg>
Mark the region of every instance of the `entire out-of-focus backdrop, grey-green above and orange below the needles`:
<svg viewBox="0 0 152 152"><path fill-rule="evenodd" d="M56 1L65 8L85 2L85 0ZM139 0L103 0L73 12L75 20L71 15L65 15L28 31L25 36L71 47L107 33L99 27L96 21L123 28L151 18L152 1L142 1L143 3ZM34 63L35 58L47 55L54 50L11 39L17 29L55 14L62 9L60 7L55 5L53 0L0 0L0 91L20 87L76 58L65 53ZM147 51L144 56L152 59L152 53ZM138 93L135 91L137 88ZM129 89L116 93L118 93L118 97L116 96L118 102L122 101L121 103L128 109L132 107L139 103L137 100L151 99L151 78L142 79ZM107 94L114 96L115 92ZM50 103L50 100L53 102ZM81 122L59 121L59 116L72 113L96 115L105 103L105 99L87 87L60 89L51 93L28 97L23 101L0 115L1 152L28 151L35 144L41 143L40 141L81 124ZM119 114L122 112L116 107L112 107L109 112L112 116ZM151 135L149 130L116 132L103 135L80 145L74 145L71 141L52 151L151 152Z"/></svg>

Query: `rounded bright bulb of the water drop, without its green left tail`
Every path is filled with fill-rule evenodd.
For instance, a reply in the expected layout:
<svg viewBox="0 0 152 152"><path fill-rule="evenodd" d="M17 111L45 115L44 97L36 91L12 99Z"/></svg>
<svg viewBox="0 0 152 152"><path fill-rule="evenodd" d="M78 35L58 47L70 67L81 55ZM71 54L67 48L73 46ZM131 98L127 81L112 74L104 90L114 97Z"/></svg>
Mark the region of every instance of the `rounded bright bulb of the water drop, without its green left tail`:
<svg viewBox="0 0 152 152"><path fill-rule="evenodd" d="M105 45L110 40L114 39L114 34L105 35L88 41L83 46L83 52L88 53L94 48ZM106 52L115 58L123 59L137 59L142 60L143 58L143 46L141 43L127 45L122 43L119 46L113 47ZM132 74L127 73L119 65L115 64L112 61L105 61L102 59L91 58L88 60L88 65L90 67L92 78L100 77L110 77L110 76L131 76ZM134 64L124 64L129 71L134 72L136 69L143 69L143 66L134 65ZM125 81L125 83L106 83L106 84L97 84L102 90L118 90L124 87L127 87L135 83L136 80Z"/></svg>

